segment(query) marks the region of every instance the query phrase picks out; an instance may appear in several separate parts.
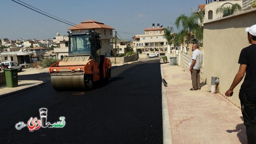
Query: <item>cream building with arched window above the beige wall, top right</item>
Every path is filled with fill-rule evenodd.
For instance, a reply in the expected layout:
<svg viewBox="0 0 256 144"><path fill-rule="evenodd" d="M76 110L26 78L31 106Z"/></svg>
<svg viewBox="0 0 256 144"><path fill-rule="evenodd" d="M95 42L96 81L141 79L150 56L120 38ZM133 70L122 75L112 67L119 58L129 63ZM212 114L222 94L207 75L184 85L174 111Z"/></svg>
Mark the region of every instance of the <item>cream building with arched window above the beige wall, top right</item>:
<svg viewBox="0 0 256 144"><path fill-rule="evenodd" d="M200 4L198 6L198 13L204 17L204 22L210 20L216 20L217 18L222 18L222 14L217 14L217 8L221 6L231 6L231 4L239 4L242 7L243 0L206 0L206 4Z"/></svg>

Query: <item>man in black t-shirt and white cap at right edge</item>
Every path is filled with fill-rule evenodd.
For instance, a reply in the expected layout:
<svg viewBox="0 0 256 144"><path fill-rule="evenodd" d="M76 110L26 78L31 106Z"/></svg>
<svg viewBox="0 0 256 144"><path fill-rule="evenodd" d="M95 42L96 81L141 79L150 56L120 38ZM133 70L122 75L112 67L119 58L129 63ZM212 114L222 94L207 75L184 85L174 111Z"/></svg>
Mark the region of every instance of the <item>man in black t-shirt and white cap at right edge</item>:
<svg viewBox="0 0 256 144"><path fill-rule="evenodd" d="M240 88L239 99L244 125L246 126L248 144L256 144L256 24L246 28L245 31L251 45L242 49L238 60L240 64L238 73L225 95L230 97L230 94L246 73Z"/></svg>

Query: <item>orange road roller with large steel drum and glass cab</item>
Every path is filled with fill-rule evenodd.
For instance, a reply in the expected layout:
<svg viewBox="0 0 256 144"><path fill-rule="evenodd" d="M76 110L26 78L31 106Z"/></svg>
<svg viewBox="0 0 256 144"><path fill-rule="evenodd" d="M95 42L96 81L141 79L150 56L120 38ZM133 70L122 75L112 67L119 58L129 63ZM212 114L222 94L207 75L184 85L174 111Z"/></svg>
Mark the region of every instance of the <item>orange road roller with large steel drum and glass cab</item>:
<svg viewBox="0 0 256 144"><path fill-rule="evenodd" d="M54 90L91 90L94 82L109 81L111 61L100 55L100 49L100 33L68 33L68 57L49 68Z"/></svg>

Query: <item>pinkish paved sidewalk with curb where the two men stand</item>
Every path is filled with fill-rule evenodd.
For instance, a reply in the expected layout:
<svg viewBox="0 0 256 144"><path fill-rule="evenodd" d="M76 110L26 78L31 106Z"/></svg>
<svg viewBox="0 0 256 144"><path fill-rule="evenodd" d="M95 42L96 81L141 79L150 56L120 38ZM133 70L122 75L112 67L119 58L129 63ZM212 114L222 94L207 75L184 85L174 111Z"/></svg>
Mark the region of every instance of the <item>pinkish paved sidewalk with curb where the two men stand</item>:
<svg viewBox="0 0 256 144"><path fill-rule="evenodd" d="M210 87L192 88L190 72L161 64L164 144L247 144L240 108ZM203 83L202 83L203 84Z"/></svg>

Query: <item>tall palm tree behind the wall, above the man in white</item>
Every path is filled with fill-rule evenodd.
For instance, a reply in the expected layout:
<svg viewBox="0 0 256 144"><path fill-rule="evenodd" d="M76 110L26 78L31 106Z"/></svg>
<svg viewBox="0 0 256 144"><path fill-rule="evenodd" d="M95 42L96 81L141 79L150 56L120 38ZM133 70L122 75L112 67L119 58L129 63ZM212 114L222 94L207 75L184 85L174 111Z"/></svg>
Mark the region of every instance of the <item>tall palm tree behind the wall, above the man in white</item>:
<svg viewBox="0 0 256 144"><path fill-rule="evenodd" d="M198 20L200 21L200 24L198 24ZM176 21L175 25L179 29L180 26L182 26L182 29L179 32L179 41L182 40L182 43L184 41L184 38L186 38L187 42L192 41L192 35L196 36L197 40L203 39L203 26L202 26L202 15L198 12L194 12L190 14L190 16L185 16L185 14L180 15Z"/></svg>

